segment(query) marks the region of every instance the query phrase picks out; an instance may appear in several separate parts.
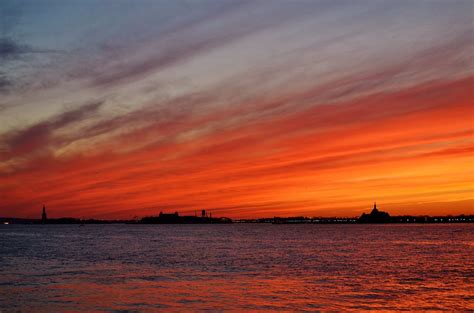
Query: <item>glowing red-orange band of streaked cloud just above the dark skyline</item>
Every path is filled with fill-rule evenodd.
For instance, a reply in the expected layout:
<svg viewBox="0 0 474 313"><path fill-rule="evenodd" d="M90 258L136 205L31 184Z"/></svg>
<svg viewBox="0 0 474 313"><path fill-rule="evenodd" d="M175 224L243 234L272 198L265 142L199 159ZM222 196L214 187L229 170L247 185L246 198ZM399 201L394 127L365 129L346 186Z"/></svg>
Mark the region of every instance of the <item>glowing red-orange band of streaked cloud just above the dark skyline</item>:
<svg viewBox="0 0 474 313"><path fill-rule="evenodd" d="M253 118L242 103L150 123L92 153L41 154L9 167L0 175L1 212L34 217L46 203L51 216L201 208L231 217L354 216L377 200L395 214L472 214L473 83L437 82ZM312 99L279 97L254 108Z"/></svg>

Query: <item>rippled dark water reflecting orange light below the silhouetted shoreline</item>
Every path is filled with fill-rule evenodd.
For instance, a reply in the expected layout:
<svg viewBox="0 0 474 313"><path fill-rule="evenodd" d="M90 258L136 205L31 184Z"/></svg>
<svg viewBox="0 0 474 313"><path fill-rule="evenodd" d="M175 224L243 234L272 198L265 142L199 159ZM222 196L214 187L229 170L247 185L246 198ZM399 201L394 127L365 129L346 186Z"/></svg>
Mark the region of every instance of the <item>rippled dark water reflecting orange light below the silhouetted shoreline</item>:
<svg viewBox="0 0 474 313"><path fill-rule="evenodd" d="M474 225L0 225L0 311L474 310Z"/></svg>

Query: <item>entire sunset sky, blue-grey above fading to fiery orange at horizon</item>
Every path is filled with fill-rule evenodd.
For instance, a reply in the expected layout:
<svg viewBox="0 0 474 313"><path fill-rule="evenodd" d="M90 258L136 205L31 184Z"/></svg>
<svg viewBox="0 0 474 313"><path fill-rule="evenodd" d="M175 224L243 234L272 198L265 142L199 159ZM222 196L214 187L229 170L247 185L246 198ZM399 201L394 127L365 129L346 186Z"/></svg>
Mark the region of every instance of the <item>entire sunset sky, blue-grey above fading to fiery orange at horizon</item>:
<svg viewBox="0 0 474 313"><path fill-rule="evenodd" d="M0 216L474 214L466 1L0 3Z"/></svg>

